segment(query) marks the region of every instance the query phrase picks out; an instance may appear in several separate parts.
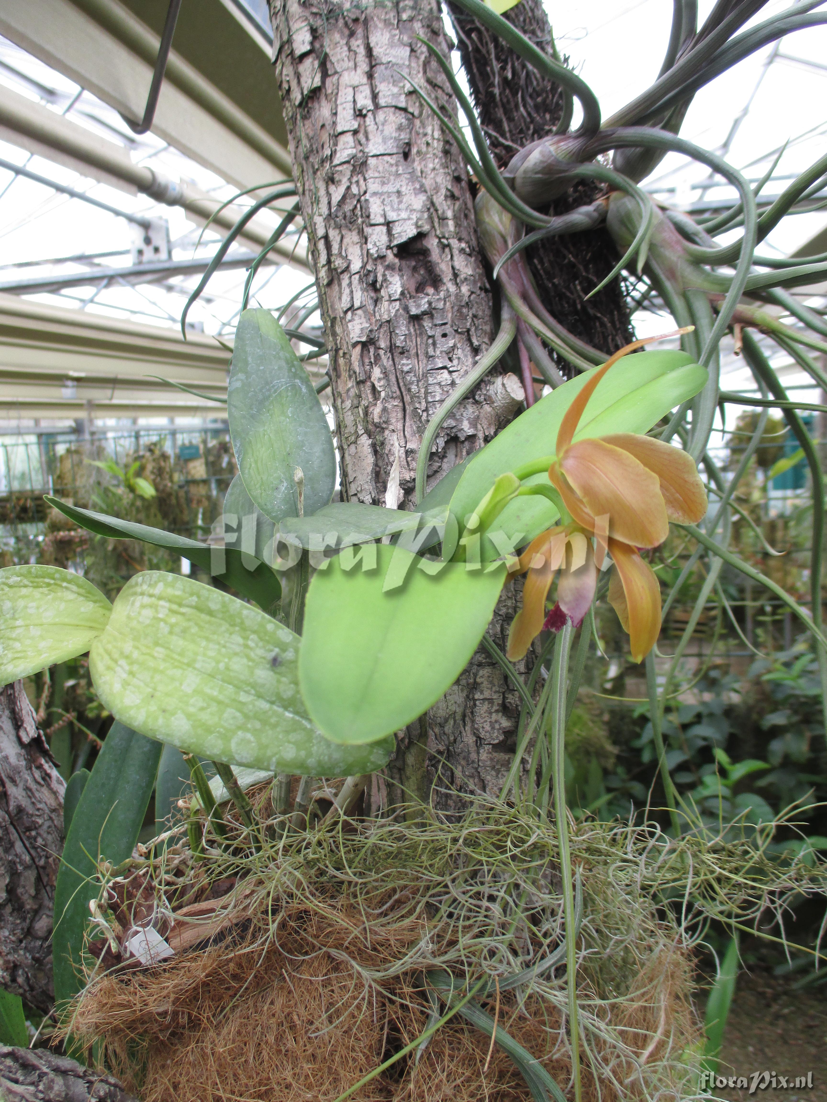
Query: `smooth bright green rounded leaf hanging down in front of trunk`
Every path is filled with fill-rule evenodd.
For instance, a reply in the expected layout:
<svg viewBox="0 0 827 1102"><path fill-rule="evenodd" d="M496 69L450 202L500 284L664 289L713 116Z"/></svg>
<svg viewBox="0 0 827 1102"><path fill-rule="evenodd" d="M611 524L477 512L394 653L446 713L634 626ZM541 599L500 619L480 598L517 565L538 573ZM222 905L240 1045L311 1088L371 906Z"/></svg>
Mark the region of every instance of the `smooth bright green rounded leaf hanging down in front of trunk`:
<svg viewBox="0 0 827 1102"><path fill-rule="evenodd" d="M373 569L366 557L348 569L340 555L318 571L304 607L301 690L337 743L382 738L438 701L476 649L505 581L501 563L473 570L401 547L369 550Z"/></svg>

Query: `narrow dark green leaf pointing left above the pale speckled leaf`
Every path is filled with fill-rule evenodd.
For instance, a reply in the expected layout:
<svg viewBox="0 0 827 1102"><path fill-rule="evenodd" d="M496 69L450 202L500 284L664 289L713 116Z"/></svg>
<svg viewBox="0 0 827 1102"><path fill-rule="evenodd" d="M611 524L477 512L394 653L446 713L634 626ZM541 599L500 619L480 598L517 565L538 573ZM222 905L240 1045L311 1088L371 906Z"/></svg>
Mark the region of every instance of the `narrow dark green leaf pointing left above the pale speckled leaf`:
<svg viewBox="0 0 827 1102"><path fill-rule="evenodd" d="M141 540L153 547L176 551L183 559L189 559L196 566L208 571L213 577L229 585L241 596L255 601L265 612L270 612L281 601L281 583L278 575L269 566L264 563L257 564L253 557L244 555L236 548L210 548L185 536L175 536L174 532L164 532L148 525L137 525L131 520L119 520L118 517L108 517L92 509L80 509L76 505L68 505L49 495L45 495L44 500L96 536L107 536L115 540Z"/></svg>

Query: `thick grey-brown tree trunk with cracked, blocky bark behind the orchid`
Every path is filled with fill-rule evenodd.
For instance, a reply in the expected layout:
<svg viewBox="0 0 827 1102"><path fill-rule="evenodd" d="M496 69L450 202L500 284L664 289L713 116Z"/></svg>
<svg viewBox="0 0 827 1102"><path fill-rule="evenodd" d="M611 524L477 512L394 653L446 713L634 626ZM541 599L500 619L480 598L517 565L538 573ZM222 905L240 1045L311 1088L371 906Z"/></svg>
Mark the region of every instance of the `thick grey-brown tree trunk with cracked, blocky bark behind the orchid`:
<svg viewBox="0 0 827 1102"><path fill-rule="evenodd" d="M453 107L441 72L417 41L420 35L447 53L439 4L383 0L343 11L312 0L271 0L271 19L331 348L342 494L374 505L410 504L425 426L492 338L465 166L401 75ZM447 422L429 483L511 420L514 406L497 413L490 400L496 382L486 380ZM429 715L429 747L447 759L447 779L496 790L515 711L498 668L477 653ZM394 768L400 782L419 778L419 795L421 756L417 723L401 737Z"/></svg>

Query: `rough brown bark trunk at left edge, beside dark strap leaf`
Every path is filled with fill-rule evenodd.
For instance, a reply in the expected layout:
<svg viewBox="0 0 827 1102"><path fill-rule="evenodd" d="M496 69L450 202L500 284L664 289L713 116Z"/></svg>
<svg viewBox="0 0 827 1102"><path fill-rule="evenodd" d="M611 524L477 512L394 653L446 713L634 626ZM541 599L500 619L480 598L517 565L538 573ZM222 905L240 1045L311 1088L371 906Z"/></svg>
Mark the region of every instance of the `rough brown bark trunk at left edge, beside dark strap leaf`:
<svg viewBox="0 0 827 1102"><path fill-rule="evenodd" d="M20 681L0 690L0 986L47 1012L65 784Z"/></svg>

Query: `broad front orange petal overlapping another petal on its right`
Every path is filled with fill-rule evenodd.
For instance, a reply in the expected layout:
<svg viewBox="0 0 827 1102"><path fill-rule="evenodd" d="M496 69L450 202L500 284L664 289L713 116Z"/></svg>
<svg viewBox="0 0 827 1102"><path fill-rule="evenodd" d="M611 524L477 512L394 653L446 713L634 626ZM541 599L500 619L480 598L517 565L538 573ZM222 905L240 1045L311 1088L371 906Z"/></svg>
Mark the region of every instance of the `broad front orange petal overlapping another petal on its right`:
<svg viewBox="0 0 827 1102"><path fill-rule="evenodd" d="M610 537L633 547L657 547L669 534L658 477L630 452L580 440L566 449L559 467L591 514L590 529L594 517L608 514Z"/></svg>

